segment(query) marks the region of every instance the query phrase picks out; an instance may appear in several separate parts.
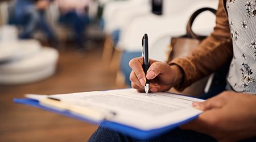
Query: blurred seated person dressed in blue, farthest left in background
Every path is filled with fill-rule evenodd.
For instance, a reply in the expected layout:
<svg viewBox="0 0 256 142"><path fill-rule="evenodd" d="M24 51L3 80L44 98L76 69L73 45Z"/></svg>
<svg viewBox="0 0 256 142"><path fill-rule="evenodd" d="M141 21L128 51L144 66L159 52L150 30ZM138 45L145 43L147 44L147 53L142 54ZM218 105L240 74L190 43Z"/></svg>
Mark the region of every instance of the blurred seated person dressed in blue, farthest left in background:
<svg viewBox="0 0 256 142"><path fill-rule="evenodd" d="M50 0L16 0L14 5L13 23L22 26L20 39L29 39L39 28L45 32L48 41L57 42L57 38L46 19L46 9Z"/></svg>

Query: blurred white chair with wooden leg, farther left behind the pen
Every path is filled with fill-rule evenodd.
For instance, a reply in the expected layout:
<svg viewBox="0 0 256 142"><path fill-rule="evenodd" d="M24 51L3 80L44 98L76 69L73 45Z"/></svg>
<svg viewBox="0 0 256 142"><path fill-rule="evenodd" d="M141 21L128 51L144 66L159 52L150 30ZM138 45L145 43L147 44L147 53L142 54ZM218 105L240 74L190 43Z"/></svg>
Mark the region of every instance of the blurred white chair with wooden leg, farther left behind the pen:
<svg viewBox="0 0 256 142"><path fill-rule="evenodd" d="M122 32L123 27L126 27L135 17L146 15L149 12L150 0L111 1L105 5L102 19L106 36L102 60L110 62L112 58L113 32L116 30Z"/></svg>

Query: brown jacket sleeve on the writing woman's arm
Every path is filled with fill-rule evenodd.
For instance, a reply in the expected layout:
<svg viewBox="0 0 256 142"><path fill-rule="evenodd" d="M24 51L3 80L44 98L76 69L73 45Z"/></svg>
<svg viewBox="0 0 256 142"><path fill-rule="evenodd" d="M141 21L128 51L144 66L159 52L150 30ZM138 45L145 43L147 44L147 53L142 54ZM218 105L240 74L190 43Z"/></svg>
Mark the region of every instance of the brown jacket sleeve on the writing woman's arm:
<svg viewBox="0 0 256 142"><path fill-rule="evenodd" d="M176 86L177 90L183 90L191 83L208 76L232 58L232 38L224 3L226 1L219 0L216 27L214 27L212 34L202 41L191 56L169 62L170 65L180 66L184 71L184 81Z"/></svg>

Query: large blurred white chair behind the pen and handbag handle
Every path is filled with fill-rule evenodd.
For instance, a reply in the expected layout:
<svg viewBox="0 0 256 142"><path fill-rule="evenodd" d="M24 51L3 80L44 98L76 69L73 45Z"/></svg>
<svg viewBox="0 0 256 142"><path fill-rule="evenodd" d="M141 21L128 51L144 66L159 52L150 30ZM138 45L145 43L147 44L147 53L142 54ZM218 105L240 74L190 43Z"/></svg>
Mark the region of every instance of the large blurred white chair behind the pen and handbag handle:
<svg viewBox="0 0 256 142"><path fill-rule="evenodd" d="M123 28L125 30L120 35L118 47L125 51L141 51L141 38L144 33L147 33L150 56L156 60L163 61L166 45L170 42L169 38L185 34L185 26L192 12L201 7L217 9L218 3L217 0L168 0L164 2L168 2L170 7L166 8L163 16L153 14L141 16L135 18L126 28ZM215 16L210 12L205 12L195 20L193 30L199 31L200 34L208 35L213 30L214 25Z"/></svg>

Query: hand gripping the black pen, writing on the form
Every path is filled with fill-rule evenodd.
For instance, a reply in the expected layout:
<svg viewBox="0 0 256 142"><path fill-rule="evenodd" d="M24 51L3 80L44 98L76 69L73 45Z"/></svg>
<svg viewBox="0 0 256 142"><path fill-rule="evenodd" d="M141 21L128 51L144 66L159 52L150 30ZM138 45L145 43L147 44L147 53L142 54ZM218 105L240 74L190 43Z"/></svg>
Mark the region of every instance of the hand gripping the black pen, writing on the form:
<svg viewBox="0 0 256 142"><path fill-rule="evenodd" d="M139 92L144 92L146 78L150 80L150 91L166 91L181 82L183 73L179 66L168 65L166 62L150 60L150 68L145 75L142 65L143 58L137 57L129 62L131 69L131 86Z"/></svg>

